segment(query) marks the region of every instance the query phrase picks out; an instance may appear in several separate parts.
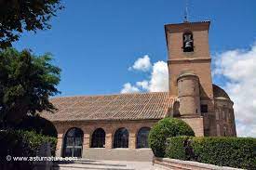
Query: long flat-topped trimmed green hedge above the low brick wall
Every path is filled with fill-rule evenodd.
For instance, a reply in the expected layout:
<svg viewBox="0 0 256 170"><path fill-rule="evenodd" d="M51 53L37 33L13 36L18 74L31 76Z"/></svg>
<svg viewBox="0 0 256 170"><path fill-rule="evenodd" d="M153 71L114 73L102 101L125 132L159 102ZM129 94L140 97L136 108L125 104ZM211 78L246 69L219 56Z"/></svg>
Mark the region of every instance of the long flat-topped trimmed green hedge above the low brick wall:
<svg viewBox="0 0 256 170"><path fill-rule="evenodd" d="M251 137L170 137L166 156L187 160L183 142L191 146L198 162L220 166L256 169L256 138Z"/></svg>

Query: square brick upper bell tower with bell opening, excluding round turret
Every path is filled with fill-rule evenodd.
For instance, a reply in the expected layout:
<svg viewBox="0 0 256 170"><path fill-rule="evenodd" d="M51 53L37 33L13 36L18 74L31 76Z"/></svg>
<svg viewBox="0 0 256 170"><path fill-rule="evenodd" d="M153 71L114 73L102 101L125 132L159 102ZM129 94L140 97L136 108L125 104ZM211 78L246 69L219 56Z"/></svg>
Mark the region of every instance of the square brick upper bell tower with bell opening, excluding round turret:
<svg viewBox="0 0 256 170"><path fill-rule="evenodd" d="M199 78L200 98L213 98L209 55L209 21L165 25L168 46L169 93L178 96L177 79L183 73Z"/></svg>

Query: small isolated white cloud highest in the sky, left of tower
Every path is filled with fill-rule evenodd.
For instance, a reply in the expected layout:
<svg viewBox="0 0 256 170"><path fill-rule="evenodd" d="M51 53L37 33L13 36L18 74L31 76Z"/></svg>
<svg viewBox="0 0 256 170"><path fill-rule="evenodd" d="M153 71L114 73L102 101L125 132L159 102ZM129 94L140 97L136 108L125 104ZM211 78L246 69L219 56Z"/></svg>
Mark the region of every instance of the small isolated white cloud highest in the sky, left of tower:
<svg viewBox="0 0 256 170"><path fill-rule="evenodd" d="M143 56L142 58L137 59L133 66L129 67L128 70L136 70L142 72L148 72L152 68L152 64L148 55Z"/></svg>

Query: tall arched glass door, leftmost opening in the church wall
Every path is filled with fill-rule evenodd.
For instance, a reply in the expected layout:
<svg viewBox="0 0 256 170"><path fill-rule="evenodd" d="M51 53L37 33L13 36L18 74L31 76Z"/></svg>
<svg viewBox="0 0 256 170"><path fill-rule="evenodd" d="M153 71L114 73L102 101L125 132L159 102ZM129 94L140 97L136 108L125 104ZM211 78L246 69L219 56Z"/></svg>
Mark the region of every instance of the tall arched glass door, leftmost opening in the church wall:
<svg viewBox="0 0 256 170"><path fill-rule="evenodd" d="M69 129L64 137L63 157L82 157L83 137L81 129Z"/></svg>

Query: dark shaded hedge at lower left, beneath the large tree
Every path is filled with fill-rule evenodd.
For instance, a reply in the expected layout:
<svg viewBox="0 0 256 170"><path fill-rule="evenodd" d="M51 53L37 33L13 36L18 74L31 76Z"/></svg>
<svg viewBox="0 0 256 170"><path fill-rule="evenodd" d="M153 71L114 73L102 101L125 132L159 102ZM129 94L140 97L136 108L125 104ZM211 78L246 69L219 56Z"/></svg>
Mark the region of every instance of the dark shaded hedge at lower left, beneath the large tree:
<svg viewBox="0 0 256 170"><path fill-rule="evenodd" d="M7 162L6 157L7 155L12 157L36 156L40 146L45 142L50 142L51 153L52 155L55 155L57 144L57 138L55 137L42 136L33 131L30 132L12 129L0 131L0 169L33 169L33 162L14 162L13 160Z"/></svg>

